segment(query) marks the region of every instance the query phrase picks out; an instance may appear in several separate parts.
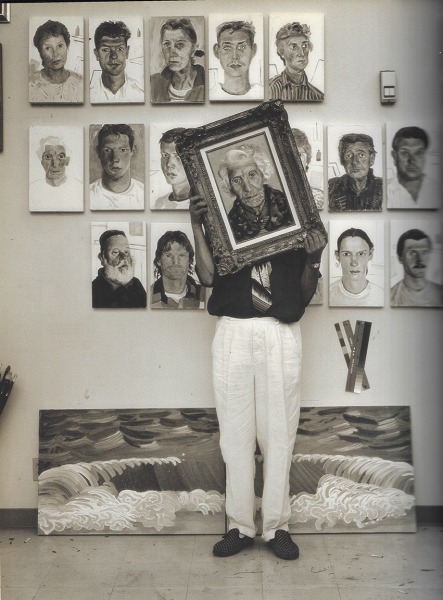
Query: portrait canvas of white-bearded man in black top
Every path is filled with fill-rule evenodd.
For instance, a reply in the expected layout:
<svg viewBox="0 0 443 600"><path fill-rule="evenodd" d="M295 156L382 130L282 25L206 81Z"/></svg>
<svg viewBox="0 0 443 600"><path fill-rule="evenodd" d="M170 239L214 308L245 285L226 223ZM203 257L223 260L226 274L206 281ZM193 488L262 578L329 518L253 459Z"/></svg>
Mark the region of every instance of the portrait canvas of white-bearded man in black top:
<svg viewBox="0 0 443 600"><path fill-rule="evenodd" d="M92 308L146 308L146 225L91 224Z"/></svg>

